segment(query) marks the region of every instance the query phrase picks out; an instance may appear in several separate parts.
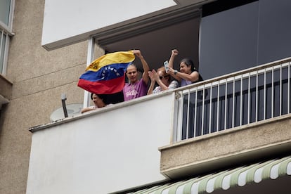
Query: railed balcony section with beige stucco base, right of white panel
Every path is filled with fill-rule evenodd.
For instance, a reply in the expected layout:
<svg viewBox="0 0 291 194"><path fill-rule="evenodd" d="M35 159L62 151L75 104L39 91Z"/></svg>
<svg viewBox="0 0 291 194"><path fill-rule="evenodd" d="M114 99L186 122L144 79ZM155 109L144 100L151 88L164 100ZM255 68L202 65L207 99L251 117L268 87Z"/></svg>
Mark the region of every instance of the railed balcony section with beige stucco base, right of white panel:
<svg viewBox="0 0 291 194"><path fill-rule="evenodd" d="M176 143L160 148L161 173L177 179L290 151L290 60L176 90Z"/></svg>

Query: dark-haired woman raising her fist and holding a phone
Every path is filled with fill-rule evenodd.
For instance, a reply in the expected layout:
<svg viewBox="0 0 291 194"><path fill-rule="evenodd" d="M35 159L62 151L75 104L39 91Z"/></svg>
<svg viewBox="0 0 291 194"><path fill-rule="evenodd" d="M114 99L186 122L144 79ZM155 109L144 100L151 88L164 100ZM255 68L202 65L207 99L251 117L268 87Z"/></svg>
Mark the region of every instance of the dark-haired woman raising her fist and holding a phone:
<svg viewBox="0 0 291 194"><path fill-rule="evenodd" d="M194 63L189 58L183 58L180 62L180 71L174 70L174 58L178 55L176 49L172 50L171 58L169 59L169 71L168 73L172 75L181 86L186 86L188 84L193 84L195 82L202 81L202 77L194 67Z"/></svg>

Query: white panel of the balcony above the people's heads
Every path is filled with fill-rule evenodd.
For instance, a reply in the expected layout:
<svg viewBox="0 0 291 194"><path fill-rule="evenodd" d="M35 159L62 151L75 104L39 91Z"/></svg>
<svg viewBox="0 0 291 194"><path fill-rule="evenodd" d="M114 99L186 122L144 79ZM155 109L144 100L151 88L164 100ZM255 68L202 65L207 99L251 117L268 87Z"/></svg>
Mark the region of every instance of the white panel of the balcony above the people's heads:
<svg viewBox="0 0 291 194"><path fill-rule="evenodd" d="M80 34L85 34L81 37L84 38L103 27L174 5L173 0L46 0L41 44L51 44ZM76 37L76 40L79 38Z"/></svg>

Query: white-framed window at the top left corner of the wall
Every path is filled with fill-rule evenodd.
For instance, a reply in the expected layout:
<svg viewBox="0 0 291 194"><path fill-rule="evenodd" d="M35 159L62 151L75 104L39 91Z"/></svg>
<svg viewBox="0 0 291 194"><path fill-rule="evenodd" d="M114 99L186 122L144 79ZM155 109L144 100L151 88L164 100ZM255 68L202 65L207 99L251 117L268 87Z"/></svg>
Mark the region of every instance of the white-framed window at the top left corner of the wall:
<svg viewBox="0 0 291 194"><path fill-rule="evenodd" d="M0 1L0 74L6 74L9 39L12 33L14 0Z"/></svg>

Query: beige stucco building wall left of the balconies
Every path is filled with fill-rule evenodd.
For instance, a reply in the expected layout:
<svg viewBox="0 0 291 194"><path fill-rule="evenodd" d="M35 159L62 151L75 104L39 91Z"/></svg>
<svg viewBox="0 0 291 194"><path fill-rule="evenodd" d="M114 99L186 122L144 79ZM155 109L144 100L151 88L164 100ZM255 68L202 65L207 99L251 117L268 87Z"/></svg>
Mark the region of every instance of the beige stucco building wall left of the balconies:
<svg viewBox="0 0 291 194"><path fill-rule="evenodd" d="M77 82L86 67L87 41L46 51L41 47L43 15L44 0L15 1L6 74L12 95L0 117L0 193L25 193L29 127L50 121L51 112L62 105L61 93L66 93L67 104L83 103L84 90Z"/></svg>

